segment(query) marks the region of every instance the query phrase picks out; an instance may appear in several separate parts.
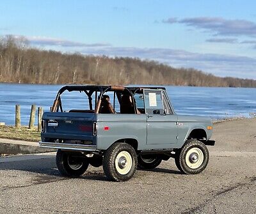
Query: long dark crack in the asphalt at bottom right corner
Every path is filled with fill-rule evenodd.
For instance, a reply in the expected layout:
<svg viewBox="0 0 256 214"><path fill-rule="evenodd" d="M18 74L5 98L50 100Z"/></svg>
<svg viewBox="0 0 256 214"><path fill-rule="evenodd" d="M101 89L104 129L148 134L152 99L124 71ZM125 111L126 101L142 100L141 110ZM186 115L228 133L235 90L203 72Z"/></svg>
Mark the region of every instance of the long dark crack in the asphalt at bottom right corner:
<svg viewBox="0 0 256 214"><path fill-rule="evenodd" d="M248 180L248 179L247 179ZM253 182L256 181L256 176L254 177L250 177L248 181L246 182L240 182L240 183L236 183L235 185L232 185L231 187L225 188L225 190L221 190L220 192L217 192L216 194L212 195L211 198L206 199L204 201L204 203L200 203L198 206L196 206L195 208L190 208L189 210L186 210L184 212L182 212L182 214L193 214L193 213L199 213L200 211L202 211L202 209L211 201L213 201L214 199L216 199L216 197L223 195L227 192L230 192L232 190L235 190L236 188L239 187L245 187L245 186L250 186L253 185ZM216 213L216 208L214 207L214 213Z"/></svg>

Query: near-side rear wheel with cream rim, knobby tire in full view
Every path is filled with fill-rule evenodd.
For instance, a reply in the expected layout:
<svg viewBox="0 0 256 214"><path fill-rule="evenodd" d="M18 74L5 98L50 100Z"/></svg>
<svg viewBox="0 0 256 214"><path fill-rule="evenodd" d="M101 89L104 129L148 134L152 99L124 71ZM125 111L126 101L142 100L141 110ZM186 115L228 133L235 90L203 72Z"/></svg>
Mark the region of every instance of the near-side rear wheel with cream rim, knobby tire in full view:
<svg viewBox="0 0 256 214"><path fill-rule="evenodd" d="M134 148L125 142L116 142L105 152L103 170L109 180L127 181L132 178L138 164Z"/></svg>

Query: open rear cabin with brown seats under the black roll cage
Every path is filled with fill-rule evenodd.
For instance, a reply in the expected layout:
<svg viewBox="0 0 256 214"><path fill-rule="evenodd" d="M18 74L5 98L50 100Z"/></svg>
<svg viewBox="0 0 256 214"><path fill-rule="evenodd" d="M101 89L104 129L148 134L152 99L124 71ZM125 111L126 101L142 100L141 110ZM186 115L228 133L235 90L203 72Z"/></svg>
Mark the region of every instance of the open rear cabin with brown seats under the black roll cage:
<svg viewBox="0 0 256 214"><path fill-rule="evenodd" d="M68 100L67 96L65 100L65 96L62 95L65 91L80 93L81 95L79 97L81 98L75 99L76 96L70 96ZM81 105L78 101L81 101ZM69 108L63 109L62 103L68 104ZM64 86L58 91L51 111L99 114L145 114L143 89L124 86Z"/></svg>

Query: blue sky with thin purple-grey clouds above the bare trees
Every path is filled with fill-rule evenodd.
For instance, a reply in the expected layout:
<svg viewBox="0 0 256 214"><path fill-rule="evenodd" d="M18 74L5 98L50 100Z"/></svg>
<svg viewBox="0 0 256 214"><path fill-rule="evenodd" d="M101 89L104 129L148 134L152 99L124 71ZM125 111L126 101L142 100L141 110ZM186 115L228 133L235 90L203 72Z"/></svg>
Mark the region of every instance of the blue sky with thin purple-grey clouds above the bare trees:
<svg viewBox="0 0 256 214"><path fill-rule="evenodd" d="M41 49L154 59L256 79L256 2L1 1L0 34Z"/></svg>

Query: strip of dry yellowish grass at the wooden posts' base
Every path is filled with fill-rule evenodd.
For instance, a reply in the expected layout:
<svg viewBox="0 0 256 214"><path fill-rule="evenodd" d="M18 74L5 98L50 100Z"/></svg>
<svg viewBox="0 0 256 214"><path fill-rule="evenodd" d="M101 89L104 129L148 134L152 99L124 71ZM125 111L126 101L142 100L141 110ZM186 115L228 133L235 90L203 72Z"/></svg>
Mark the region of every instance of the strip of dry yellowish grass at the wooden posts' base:
<svg viewBox="0 0 256 214"><path fill-rule="evenodd" d="M38 142L40 132L29 130L28 126L21 126L20 129L16 129L15 126L0 126L0 138Z"/></svg>

